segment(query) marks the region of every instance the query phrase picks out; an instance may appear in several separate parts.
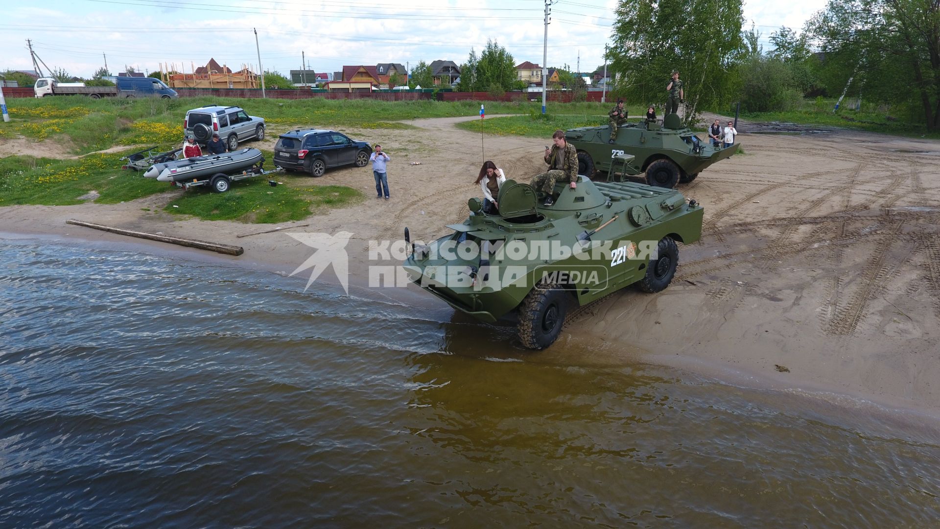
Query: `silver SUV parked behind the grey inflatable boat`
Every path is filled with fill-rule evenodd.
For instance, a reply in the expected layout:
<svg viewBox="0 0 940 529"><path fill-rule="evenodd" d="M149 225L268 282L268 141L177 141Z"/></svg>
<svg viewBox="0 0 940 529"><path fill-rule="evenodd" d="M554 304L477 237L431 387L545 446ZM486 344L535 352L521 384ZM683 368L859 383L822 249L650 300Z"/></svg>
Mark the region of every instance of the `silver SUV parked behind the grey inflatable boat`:
<svg viewBox="0 0 940 529"><path fill-rule="evenodd" d="M249 116L241 106L200 106L186 112L182 122L183 134L194 136L196 141L205 144L213 134L227 143L228 150L238 148L240 141L257 138L264 139L264 119Z"/></svg>

